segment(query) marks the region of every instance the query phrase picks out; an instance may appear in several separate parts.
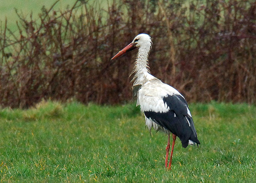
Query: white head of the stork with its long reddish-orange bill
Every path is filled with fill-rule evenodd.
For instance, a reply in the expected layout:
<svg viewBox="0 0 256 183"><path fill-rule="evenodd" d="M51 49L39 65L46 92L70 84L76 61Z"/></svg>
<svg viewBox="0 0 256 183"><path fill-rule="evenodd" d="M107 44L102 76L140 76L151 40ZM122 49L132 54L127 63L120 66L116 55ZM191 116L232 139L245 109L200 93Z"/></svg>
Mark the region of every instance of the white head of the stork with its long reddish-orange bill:
<svg viewBox="0 0 256 183"><path fill-rule="evenodd" d="M139 34L133 39L133 42L131 42L129 45L119 51L117 55L111 58L111 60L120 57L121 55L125 54L126 52L132 51L135 48L147 48L149 50L151 48L151 44L152 42L149 35Z"/></svg>

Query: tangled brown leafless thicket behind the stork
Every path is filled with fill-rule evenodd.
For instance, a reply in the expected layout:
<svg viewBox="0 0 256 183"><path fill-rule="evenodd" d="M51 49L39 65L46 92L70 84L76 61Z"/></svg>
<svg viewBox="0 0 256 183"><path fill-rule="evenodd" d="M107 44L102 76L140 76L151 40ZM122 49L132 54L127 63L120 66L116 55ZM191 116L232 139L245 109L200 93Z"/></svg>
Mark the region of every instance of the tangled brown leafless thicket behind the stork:
<svg viewBox="0 0 256 183"><path fill-rule="evenodd" d="M139 33L152 37L152 74L187 100L256 103L256 2L188 2L78 0L40 21L17 14L18 33L2 22L0 106L130 101L136 51L110 59Z"/></svg>

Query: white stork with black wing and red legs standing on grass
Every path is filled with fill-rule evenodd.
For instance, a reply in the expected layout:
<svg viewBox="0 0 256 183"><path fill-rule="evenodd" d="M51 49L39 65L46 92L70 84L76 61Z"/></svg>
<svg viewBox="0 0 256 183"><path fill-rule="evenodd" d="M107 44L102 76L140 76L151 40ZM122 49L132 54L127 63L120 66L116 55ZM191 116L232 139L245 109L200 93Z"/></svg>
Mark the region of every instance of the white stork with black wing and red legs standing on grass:
<svg viewBox="0 0 256 183"><path fill-rule="evenodd" d="M172 150L168 169L171 169L172 153L176 136L181 140L183 148L188 144L200 144L194 122L184 96L175 88L162 83L161 80L152 76L148 67L148 55L151 49L151 38L147 34L139 34L125 48L117 53L111 60L139 48L132 73L133 96L137 96L137 106L145 115L146 125L151 131L153 127L156 131L163 131L168 135L166 147L165 168L168 164L170 150L170 133L172 133Z"/></svg>

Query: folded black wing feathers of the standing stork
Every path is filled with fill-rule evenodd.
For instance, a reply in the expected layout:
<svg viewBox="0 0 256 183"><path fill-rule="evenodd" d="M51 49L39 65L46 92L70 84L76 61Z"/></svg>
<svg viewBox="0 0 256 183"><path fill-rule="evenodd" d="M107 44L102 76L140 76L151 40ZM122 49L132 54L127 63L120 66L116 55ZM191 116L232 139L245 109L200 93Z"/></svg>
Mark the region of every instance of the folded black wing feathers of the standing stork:
<svg viewBox="0 0 256 183"><path fill-rule="evenodd" d="M177 135L183 148L189 140L200 144L186 100L181 95L168 95L163 101L169 107L168 112L145 111L145 116Z"/></svg>

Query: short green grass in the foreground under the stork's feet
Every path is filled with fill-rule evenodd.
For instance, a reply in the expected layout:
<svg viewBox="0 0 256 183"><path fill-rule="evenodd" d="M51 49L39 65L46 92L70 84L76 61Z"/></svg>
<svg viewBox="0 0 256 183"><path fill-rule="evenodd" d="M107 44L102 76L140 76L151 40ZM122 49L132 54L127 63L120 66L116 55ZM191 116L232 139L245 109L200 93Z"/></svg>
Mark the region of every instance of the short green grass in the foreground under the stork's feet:
<svg viewBox="0 0 256 183"><path fill-rule="evenodd" d="M0 109L0 182L256 182L256 106L191 104L199 148L149 135L134 105Z"/></svg>

